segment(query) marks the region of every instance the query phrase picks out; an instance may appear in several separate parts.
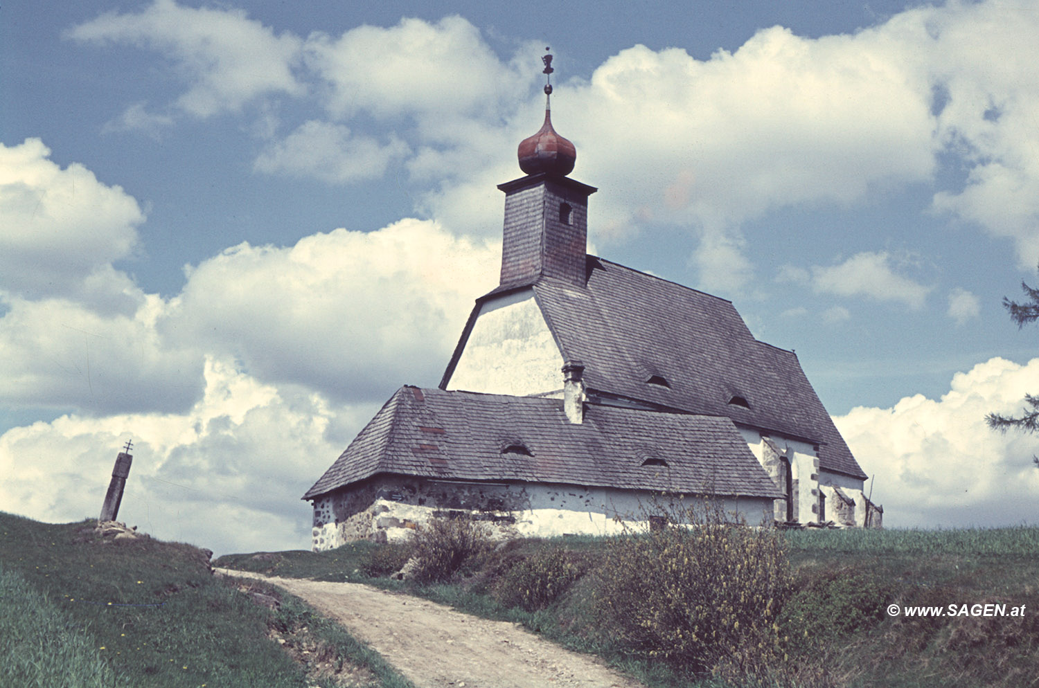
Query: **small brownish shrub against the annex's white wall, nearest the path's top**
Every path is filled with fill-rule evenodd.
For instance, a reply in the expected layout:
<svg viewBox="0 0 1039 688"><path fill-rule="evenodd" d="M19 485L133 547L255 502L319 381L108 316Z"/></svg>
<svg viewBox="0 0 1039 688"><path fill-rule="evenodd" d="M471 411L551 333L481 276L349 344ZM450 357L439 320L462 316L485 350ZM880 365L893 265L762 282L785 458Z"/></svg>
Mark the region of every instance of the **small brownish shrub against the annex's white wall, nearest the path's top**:
<svg viewBox="0 0 1039 688"><path fill-rule="evenodd" d="M476 556L490 551L486 527L470 518L429 519L411 538L416 559L415 579L421 582L447 580Z"/></svg>

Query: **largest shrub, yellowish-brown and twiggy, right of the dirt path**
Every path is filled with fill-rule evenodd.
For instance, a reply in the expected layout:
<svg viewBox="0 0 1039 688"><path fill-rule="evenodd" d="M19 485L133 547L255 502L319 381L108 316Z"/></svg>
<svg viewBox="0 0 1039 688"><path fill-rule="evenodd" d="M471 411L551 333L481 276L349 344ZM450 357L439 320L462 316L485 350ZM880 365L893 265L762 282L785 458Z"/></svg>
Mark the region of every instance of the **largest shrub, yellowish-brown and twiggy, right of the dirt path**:
<svg viewBox="0 0 1039 688"><path fill-rule="evenodd" d="M692 525L675 525L675 523ZM596 605L644 657L702 675L778 654L776 617L791 589L780 535L682 510L659 529L612 540Z"/></svg>

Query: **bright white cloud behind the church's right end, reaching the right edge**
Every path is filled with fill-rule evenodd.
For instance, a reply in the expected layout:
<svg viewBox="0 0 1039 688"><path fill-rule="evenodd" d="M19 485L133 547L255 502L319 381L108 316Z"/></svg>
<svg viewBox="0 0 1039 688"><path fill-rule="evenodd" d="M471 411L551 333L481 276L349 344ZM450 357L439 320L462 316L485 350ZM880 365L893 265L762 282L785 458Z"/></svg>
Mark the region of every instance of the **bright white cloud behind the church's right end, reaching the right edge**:
<svg viewBox="0 0 1039 688"><path fill-rule="evenodd" d="M992 431L985 415L1017 415L1024 394L1037 391L1039 359L993 358L956 374L939 400L916 394L833 420L867 473L876 473L885 525L1036 523L1039 439Z"/></svg>

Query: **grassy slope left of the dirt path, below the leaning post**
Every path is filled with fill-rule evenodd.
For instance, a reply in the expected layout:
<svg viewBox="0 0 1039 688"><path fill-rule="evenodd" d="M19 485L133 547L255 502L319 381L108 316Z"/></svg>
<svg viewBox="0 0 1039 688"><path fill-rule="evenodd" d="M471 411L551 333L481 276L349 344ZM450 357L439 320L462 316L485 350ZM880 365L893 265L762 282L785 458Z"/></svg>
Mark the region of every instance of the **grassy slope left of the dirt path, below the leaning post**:
<svg viewBox="0 0 1039 688"><path fill-rule="evenodd" d="M363 670L347 667L356 685L407 685L300 602L286 598L272 611L214 578L201 550L146 536L104 540L92 526L0 513L4 607L19 605L17 612L0 615L0 635L8 638L0 644L0 673L17 661L50 663L68 677L63 663L88 673L100 659L103 677L64 685L113 685L113 677L115 685L146 688L332 685L307 677L271 639L281 632L289 648L310 643L320 650L330 670L342 668L343 657L366 664ZM23 613L43 622L25 624ZM63 636L54 635L59 628ZM24 677L24 685L56 685L30 669Z"/></svg>

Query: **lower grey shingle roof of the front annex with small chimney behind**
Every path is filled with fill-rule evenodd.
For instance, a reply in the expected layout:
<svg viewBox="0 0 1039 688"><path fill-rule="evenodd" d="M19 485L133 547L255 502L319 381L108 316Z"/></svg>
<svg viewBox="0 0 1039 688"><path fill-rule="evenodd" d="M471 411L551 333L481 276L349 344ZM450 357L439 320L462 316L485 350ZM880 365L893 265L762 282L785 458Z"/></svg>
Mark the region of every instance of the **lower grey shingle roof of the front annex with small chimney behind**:
<svg viewBox="0 0 1039 688"><path fill-rule="evenodd" d="M643 465L647 460L648 465ZM780 497L726 418L402 387L303 499L377 474Z"/></svg>

